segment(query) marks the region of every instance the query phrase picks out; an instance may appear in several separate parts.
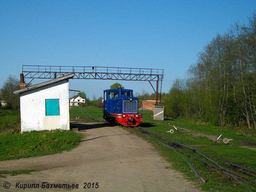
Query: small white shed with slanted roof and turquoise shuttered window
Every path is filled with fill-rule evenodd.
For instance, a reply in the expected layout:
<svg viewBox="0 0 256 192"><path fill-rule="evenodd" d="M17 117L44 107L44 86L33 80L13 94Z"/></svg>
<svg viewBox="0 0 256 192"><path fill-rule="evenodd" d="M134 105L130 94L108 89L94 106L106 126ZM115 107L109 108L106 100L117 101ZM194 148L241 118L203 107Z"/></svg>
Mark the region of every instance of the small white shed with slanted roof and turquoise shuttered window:
<svg viewBox="0 0 256 192"><path fill-rule="evenodd" d="M21 132L69 130L68 79L74 74L14 91L20 95Z"/></svg>

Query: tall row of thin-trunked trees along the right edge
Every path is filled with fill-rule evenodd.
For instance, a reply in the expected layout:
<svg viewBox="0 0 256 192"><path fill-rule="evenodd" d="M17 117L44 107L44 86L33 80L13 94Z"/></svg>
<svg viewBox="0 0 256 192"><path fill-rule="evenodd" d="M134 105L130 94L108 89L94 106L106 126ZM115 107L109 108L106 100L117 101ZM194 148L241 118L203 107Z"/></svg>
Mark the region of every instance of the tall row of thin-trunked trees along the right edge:
<svg viewBox="0 0 256 192"><path fill-rule="evenodd" d="M170 116L256 131L256 14L232 25L198 52L169 91Z"/></svg>

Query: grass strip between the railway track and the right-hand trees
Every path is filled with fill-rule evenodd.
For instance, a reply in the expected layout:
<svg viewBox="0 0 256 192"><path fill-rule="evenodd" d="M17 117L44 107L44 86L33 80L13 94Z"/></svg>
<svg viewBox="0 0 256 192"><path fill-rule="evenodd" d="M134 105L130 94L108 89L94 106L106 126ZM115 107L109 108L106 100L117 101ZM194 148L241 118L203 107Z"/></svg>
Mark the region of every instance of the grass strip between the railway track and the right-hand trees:
<svg viewBox="0 0 256 192"><path fill-rule="evenodd" d="M177 119L168 119L167 117L165 120L153 120L153 111L144 111L143 114L143 122L141 126L147 128L148 130L152 132L156 132L158 134L168 136L173 140L176 140L178 142L181 142L186 145L193 145L196 144L195 142L199 142L199 144L212 144L212 140L209 140L207 138L197 138L191 136L191 133L184 132L184 130L179 129L180 132L186 133L186 134L170 134L166 133L166 131L169 131L170 129L174 129L172 125L174 125L176 128L184 128L188 129L190 132L198 132L200 134L206 134L211 135L212 137L217 138L222 134L220 139L228 138L233 139L230 141L231 145L235 146L250 146L250 147L256 147L256 140L255 138L246 137L244 135L239 135L234 130L229 130L227 127L217 127L217 126L205 126L200 124L191 124L188 122L188 118L177 118ZM150 123L150 127L147 126L147 124ZM161 129L159 129L161 127ZM190 135L189 135L190 134ZM208 141L207 141L208 140ZM210 142L210 143L208 143ZM224 143L223 143L224 144Z"/></svg>

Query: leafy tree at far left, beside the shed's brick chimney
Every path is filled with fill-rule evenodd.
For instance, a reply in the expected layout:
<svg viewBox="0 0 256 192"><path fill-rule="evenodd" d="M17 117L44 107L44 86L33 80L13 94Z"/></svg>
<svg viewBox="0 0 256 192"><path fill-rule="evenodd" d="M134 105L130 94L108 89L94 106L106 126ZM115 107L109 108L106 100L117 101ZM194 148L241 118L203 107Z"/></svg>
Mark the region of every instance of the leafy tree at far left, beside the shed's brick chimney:
<svg viewBox="0 0 256 192"><path fill-rule="evenodd" d="M19 88L19 80L15 76L9 75L3 87L0 89L1 98L6 101L8 107L15 109L20 107L20 96L12 93Z"/></svg>

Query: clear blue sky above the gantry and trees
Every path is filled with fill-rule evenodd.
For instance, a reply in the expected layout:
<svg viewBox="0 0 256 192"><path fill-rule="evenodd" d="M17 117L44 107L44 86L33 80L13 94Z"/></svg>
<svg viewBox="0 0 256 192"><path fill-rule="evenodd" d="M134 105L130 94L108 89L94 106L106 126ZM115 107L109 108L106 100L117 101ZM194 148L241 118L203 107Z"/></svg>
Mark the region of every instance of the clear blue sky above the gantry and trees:
<svg viewBox="0 0 256 192"><path fill-rule="evenodd" d="M168 92L204 45L236 21L248 24L255 9L255 0L0 0L0 87L9 75L19 78L22 65L106 66L164 69L162 92ZM70 89L92 99L116 82L75 79ZM118 83L154 92L148 82Z"/></svg>

